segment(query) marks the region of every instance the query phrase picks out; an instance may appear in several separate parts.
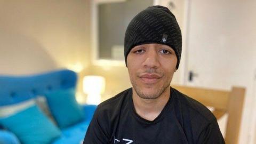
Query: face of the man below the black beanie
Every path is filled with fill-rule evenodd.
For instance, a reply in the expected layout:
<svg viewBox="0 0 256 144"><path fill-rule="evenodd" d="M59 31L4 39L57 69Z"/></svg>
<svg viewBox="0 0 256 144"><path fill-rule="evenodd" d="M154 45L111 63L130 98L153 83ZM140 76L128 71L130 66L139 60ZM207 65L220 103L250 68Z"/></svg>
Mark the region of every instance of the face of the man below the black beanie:
<svg viewBox="0 0 256 144"><path fill-rule="evenodd" d="M176 65L174 50L163 44L138 45L127 55L132 86L143 99L157 99L170 86Z"/></svg>

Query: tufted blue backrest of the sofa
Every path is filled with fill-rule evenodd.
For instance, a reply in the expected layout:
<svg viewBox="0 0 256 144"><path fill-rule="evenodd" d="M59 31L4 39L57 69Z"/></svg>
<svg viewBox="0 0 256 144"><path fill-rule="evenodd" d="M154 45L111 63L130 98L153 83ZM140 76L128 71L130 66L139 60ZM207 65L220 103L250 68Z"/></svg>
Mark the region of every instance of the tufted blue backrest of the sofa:
<svg viewBox="0 0 256 144"><path fill-rule="evenodd" d="M0 75L0 106L33 99L49 91L75 87L76 81L76 73L68 69L27 76Z"/></svg>

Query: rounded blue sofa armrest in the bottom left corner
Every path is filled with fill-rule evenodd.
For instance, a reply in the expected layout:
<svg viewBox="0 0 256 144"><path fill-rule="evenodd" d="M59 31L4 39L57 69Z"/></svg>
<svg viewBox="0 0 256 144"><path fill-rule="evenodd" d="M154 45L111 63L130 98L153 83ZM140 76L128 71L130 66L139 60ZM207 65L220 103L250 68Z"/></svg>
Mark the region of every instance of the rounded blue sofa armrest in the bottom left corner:
<svg viewBox="0 0 256 144"><path fill-rule="evenodd" d="M2 144L20 144L20 141L13 133L0 130L0 143Z"/></svg>

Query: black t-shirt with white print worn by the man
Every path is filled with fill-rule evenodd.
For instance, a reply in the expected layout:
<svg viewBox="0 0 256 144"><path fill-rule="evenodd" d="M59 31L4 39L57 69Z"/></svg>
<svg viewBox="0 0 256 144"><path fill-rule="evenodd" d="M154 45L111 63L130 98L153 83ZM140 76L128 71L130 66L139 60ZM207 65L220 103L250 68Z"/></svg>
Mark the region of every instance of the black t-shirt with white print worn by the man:
<svg viewBox="0 0 256 144"><path fill-rule="evenodd" d="M154 121L140 117L132 89L102 102L83 144L225 143L217 119L198 101L171 88L170 99Z"/></svg>

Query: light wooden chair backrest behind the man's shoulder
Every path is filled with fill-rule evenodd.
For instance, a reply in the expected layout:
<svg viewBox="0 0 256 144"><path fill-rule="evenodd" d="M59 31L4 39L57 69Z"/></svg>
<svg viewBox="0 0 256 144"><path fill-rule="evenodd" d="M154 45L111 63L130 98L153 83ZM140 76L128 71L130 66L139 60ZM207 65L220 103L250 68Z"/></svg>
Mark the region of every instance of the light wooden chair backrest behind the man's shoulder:
<svg viewBox="0 0 256 144"><path fill-rule="evenodd" d="M245 97L244 87L232 87L231 91L177 85L172 85L172 87L203 103L205 106L214 107L213 114L217 119L227 113L225 142L227 144L238 143Z"/></svg>

